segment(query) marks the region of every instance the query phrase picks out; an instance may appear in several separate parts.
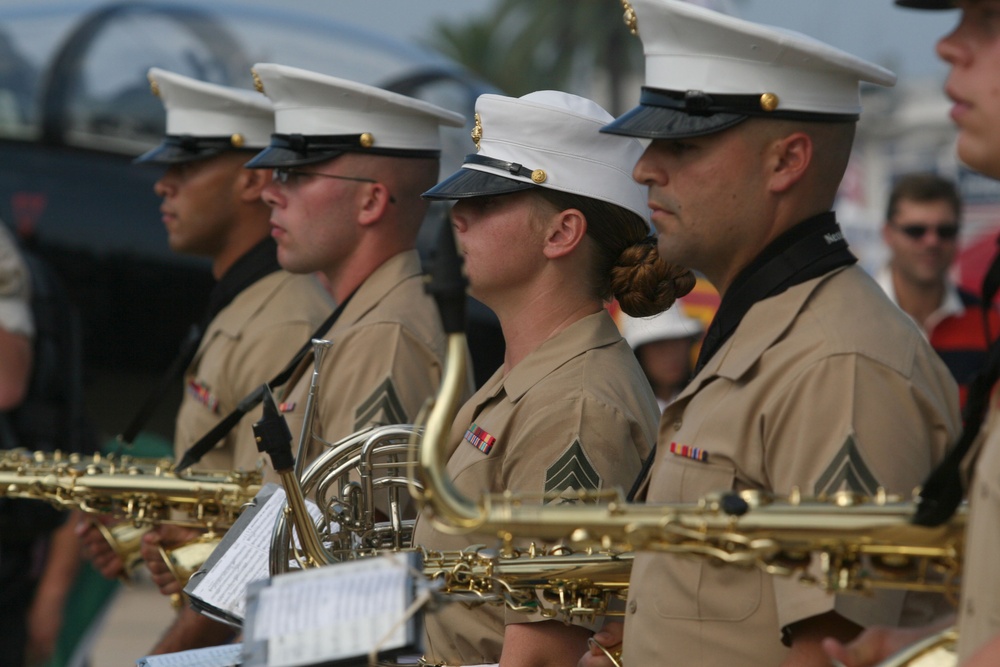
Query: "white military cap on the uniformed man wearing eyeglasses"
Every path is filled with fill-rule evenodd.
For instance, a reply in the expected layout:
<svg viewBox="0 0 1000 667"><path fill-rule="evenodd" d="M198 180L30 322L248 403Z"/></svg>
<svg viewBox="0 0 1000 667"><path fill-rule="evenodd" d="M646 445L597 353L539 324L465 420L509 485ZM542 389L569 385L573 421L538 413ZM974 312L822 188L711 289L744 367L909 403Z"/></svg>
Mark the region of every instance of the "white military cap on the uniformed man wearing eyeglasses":
<svg viewBox="0 0 1000 667"><path fill-rule="evenodd" d="M274 103L271 144L251 168L291 167L342 153L439 157L442 125L465 118L429 102L297 67L258 63L258 90Z"/></svg>

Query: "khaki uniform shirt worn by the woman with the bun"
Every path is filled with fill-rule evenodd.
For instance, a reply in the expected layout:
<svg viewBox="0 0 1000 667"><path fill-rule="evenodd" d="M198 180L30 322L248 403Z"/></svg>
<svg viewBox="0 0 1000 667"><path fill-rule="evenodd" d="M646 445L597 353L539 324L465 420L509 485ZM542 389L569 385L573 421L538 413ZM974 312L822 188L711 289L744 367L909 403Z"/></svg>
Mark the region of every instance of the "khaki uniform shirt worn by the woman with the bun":
<svg viewBox="0 0 1000 667"><path fill-rule="evenodd" d="M635 355L601 311L545 341L506 376L497 371L462 407L448 476L470 498L627 490L652 448L658 418ZM413 541L433 550L495 541L478 537L447 535L418 520ZM544 620L499 605L444 605L424 618L426 656L448 665L495 663L506 624Z"/></svg>

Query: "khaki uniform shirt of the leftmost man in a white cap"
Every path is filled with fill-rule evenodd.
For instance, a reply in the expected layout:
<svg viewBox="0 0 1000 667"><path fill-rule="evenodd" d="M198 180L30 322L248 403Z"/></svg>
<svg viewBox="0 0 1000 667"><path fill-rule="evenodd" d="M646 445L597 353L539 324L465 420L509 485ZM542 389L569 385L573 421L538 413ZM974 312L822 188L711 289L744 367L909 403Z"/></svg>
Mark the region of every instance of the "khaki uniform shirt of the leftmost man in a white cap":
<svg viewBox="0 0 1000 667"><path fill-rule="evenodd" d="M278 374L316 327L333 300L312 276L276 271L236 295L209 324L184 376L174 453L180 456L243 398ZM251 410L195 466L200 470L253 470L260 454Z"/></svg>

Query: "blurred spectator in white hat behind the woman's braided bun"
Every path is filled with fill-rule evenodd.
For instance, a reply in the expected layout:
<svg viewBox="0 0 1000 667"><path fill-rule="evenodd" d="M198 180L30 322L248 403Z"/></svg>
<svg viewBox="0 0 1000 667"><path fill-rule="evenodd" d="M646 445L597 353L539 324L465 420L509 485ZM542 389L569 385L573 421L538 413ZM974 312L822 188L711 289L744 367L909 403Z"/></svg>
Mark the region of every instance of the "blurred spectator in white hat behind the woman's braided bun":
<svg viewBox="0 0 1000 667"><path fill-rule="evenodd" d="M701 322L688 317L678 301L655 317L623 315L621 328L662 412L691 379L692 350L701 338Z"/></svg>

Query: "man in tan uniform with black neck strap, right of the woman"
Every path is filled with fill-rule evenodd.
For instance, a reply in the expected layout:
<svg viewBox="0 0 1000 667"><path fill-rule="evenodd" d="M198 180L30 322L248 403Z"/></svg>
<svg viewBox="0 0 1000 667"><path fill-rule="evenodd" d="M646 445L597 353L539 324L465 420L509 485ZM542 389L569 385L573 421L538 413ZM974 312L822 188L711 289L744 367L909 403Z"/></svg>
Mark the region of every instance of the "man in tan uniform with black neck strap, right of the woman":
<svg viewBox="0 0 1000 667"><path fill-rule="evenodd" d="M604 131L652 140L633 175L650 188L661 254L722 295L695 376L664 411L638 498L908 495L954 439L957 388L854 265L830 212L859 81L894 76L687 3L632 5L646 86L640 106ZM827 665L824 636L901 617L901 596L833 596L672 555L636 554L631 582L622 658L633 667Z"/></svg>

